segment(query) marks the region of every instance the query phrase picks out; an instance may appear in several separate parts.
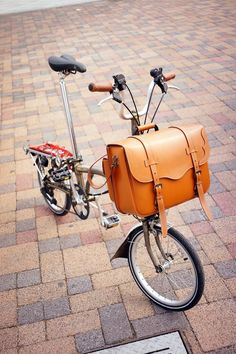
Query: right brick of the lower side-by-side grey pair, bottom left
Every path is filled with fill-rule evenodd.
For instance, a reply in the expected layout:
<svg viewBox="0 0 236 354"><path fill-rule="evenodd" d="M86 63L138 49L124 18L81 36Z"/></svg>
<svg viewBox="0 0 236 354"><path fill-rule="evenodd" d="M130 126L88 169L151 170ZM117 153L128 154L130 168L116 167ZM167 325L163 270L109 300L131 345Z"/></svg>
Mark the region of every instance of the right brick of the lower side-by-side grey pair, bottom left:
<svg viewBox="0 0 236 354"><path fill-rule="evenodd" d="M66 297L45 301L43 306L46 320L70 314L69 301Z"/></svg>

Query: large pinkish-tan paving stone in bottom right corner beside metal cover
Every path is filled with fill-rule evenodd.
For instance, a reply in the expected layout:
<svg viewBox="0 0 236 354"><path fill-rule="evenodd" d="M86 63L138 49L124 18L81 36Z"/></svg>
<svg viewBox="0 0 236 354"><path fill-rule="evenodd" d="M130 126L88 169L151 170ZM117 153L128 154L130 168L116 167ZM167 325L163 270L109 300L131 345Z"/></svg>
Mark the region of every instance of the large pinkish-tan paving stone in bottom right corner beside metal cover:
<svg viewBox="0 0 236 354"><path fill-rule="evenodd" d="M217 350L234 344L235 310L235 302L229 299L199 305L186 312L203 351Z"/></svg>

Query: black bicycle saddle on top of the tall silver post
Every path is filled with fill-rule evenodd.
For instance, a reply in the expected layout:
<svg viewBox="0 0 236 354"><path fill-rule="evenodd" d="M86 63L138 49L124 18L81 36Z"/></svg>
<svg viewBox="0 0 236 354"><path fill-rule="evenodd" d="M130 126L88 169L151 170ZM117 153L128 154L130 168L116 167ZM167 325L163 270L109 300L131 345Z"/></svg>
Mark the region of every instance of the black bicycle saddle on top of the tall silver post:
<svg viewBox="0 0 236 354"><path fill-rule="evenodd" d="M50 68L57 72L62 73L84 73L86 66L79 63L72 55L63 54L60 57L52 56L48 58Z"/></svg>

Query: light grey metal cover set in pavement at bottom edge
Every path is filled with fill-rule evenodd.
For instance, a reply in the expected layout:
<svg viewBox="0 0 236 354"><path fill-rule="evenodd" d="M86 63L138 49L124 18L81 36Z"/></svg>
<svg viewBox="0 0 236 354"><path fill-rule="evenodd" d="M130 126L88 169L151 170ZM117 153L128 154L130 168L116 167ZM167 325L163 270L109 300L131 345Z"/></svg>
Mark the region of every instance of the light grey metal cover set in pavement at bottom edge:
<svg viewBox="0 0 236 354"><path fill-rule="evenodd" d="M179 332L98 350L93 354L188 354Z"/></svg>

